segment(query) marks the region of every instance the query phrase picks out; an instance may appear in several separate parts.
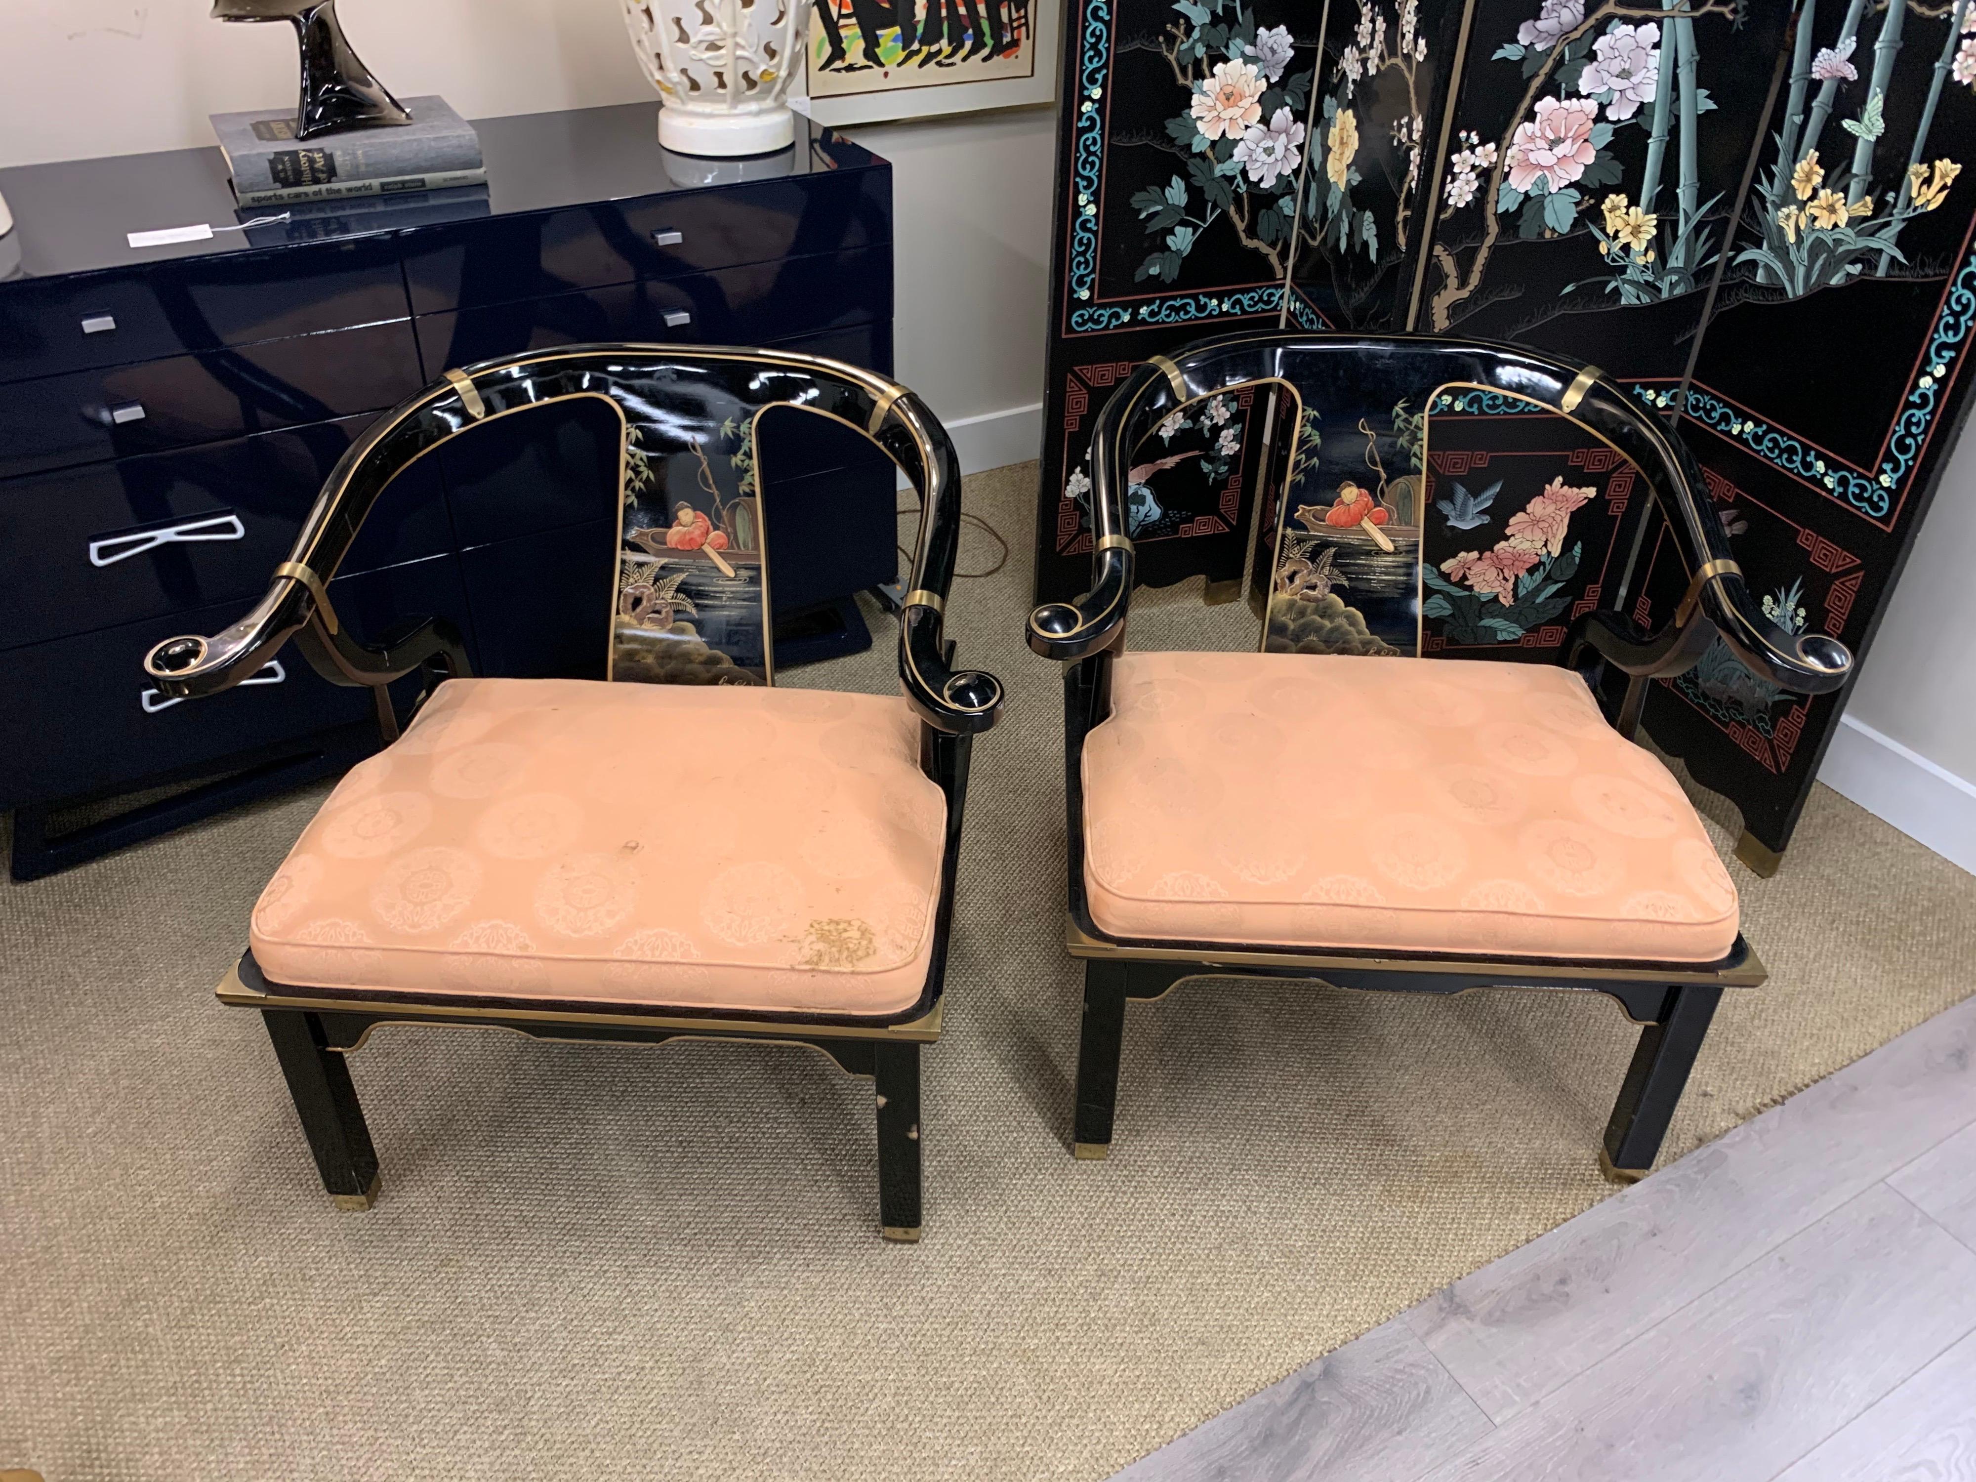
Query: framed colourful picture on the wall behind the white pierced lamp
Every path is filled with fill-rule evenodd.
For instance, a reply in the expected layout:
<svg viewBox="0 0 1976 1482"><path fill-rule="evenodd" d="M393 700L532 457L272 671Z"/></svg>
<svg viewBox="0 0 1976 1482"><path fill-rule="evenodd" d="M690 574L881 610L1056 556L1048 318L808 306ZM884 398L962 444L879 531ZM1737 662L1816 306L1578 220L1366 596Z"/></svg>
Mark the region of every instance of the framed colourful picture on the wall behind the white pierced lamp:
<svg viewBox="0 0 1976 1482"><path fill-rule="evenodd" d="M816 0L810 97L1035 75L1037 0Z"/></svg>

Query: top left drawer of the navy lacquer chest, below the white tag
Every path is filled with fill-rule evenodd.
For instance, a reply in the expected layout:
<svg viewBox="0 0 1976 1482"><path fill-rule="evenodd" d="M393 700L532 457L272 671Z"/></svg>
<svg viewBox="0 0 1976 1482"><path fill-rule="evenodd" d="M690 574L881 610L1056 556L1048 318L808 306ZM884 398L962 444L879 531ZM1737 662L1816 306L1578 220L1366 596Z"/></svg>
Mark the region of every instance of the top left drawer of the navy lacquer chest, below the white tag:
<svg viewBox="0 0 1976 1482"><path fill-rule="evenodd" d="M0 283L0 381L407 318L389 237Z"/></svg>

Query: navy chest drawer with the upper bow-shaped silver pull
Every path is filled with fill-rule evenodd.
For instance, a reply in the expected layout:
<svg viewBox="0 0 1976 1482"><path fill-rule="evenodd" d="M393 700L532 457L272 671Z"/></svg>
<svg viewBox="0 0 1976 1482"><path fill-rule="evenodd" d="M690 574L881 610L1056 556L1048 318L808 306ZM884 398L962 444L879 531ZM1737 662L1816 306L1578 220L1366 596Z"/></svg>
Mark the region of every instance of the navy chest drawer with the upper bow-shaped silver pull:
<svg viewBox="0 0 1976 1482"><path fill-rule="evenodd" d="M0 648L253 601L368 421L0 484ZM344 571L431 555L451 539L439 464L425 458L383 492Z"/></svg>

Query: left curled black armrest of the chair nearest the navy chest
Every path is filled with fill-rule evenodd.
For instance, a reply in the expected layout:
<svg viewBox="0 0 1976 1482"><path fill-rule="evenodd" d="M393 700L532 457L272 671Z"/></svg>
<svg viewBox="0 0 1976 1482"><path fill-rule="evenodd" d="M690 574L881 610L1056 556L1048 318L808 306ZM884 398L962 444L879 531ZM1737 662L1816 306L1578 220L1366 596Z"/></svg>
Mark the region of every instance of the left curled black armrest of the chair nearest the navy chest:
<svg viewBox="0 0 1976 1482"><path fill-rule="evenodd" d="M206 638L166 638L144 654L144 674L172 700L198 700L231 690L255 674L275 652L296 638L302 656L330 684L385 686L417 668L468 674L466 646L447 618L427 618L409 632L364 644L336 618L328 593L314 573L277 567L267 595L233 626Z"/></svg>

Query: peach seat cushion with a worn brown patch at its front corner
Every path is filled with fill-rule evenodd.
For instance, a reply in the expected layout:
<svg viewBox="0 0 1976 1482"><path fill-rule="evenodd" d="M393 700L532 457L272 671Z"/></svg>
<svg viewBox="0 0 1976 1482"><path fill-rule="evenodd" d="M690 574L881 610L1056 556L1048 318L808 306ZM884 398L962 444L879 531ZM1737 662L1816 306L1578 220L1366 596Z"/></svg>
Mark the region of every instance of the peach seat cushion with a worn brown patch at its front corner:
<svg viewBox="0 0 1976 1482"><path fill-rule="evenodd" d="M253 913L281 984L887 1016L927 984L947 800L903 700L453 680Z"/></svg>

